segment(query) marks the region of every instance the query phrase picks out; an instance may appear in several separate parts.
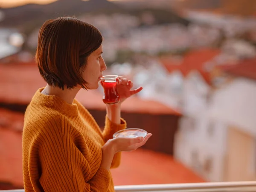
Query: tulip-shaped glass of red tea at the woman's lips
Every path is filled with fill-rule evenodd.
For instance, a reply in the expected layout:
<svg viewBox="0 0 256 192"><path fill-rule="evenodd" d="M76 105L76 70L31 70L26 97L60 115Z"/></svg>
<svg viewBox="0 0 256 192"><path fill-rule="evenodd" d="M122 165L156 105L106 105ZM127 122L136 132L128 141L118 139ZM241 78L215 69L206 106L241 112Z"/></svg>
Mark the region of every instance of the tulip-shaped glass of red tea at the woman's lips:
<svg viewBox="0 0 256 192"><path fill-rule="evenodd" d="M101 78L103 87L104 87L104 95L103 102L106 104L115 104L120 101L120 97L116 90L116 78L118 76L103 76Z"/></svg>

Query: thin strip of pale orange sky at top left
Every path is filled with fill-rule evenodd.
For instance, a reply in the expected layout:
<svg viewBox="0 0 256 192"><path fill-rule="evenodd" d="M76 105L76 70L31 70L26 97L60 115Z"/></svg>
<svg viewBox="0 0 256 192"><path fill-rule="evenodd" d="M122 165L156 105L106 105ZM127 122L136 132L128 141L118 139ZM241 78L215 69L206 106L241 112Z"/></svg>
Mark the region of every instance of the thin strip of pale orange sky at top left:
<svg viewBox="0 0 256 192"><path fill-rule="evenodd" d="M0 7L8 8L14 6L21 6L27 3L38 3L38 4L47 4L52 3L56 0L0 0ZM113 1L113 0L109 0Z"/></svg>

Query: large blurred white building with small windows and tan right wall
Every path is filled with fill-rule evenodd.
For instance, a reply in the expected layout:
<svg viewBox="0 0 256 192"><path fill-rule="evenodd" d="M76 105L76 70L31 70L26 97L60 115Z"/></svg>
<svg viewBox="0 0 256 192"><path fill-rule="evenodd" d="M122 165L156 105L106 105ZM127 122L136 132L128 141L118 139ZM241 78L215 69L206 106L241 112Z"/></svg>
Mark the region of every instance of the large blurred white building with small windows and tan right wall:
<svg viewBox="0 0 256 192"><path fill-rule="evenodd" d="M255 180L256 81L239 77L211 95L202 80L185 81L175 158L207 181Z"/></svg>

